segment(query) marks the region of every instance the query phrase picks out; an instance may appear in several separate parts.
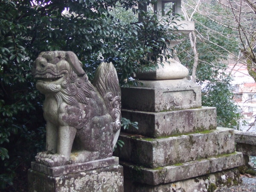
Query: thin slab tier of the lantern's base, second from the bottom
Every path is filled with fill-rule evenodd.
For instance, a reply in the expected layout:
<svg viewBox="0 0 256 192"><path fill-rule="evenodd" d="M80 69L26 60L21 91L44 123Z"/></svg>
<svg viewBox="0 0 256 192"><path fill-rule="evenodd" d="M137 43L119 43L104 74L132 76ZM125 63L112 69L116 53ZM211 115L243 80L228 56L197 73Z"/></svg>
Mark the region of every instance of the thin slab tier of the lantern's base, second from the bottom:
<svg viewBox="0 0 256 192"><path fill-rule="evenodd" d="M151 186L224 171L241 166L242 164L243 155L240 152L180 163L172 166L159 167L157 169L148 169L120 161L120 165L124 168L124 175L126 178Z"/></svg>

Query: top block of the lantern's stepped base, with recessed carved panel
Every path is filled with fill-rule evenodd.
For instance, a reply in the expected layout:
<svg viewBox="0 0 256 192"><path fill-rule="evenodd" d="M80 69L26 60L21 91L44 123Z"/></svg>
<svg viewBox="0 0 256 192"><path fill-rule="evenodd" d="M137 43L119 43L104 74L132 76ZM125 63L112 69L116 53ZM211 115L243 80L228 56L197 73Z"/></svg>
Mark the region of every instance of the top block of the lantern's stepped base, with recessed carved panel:
<svg viewBox="0 0 256 192"><path fill-rule="evenodd" d="M122 88L122 108L147 112L201 107L201 87L185 79L145 81Z"/></svg>

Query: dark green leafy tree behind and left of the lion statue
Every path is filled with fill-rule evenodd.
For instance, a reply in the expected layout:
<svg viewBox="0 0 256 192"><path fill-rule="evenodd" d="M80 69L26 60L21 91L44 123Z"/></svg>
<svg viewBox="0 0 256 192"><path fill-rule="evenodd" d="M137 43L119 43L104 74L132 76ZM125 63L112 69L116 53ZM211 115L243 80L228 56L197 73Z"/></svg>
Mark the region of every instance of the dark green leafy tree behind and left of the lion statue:
<svg viewBox="0 0 256 192"><path fill-rule="evenodd" d="M0 0L0 189L20 190L20 179L11 186L13 179L26 175L36 152L44 150L44 98L30 72L40 52L75 52L90 79L101 61L112 61L120 84L136 83L129 77L138 68L151 69L169 57L166 42L176 36L166 24L175 24L175 17L158 21L145 13L143 23L123 23L110 15L117 4L136 13L137 3Z"/></svg>

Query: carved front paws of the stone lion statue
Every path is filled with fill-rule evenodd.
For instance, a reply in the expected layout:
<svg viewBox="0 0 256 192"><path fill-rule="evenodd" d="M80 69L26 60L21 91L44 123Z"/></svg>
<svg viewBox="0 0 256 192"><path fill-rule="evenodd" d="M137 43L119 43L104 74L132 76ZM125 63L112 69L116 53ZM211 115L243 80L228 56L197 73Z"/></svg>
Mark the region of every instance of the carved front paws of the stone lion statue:
<svg viewBox="0 0 256 192"><path fill-rule="evenodd" d="M39 152L35 156L36 162L43 164L48 167L55 167L61 165L67 165L69 163L69 158L60 154L49 154L47 151Z"/></svg>

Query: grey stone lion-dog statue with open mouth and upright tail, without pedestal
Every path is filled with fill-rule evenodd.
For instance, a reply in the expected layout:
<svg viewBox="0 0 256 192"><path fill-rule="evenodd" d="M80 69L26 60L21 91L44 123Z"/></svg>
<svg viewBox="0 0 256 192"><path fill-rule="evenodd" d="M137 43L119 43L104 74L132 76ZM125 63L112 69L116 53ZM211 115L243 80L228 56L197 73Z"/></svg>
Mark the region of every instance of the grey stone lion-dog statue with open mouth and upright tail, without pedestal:
<svg viewBox="0 0 256 192"><path fill-rule="evenodd" d="M112 156L121 128L113 64L100 64L91 84L73 52L50 51L40 53L32 73L47 122L46 151L36 161L53 167Z"/></svg>

